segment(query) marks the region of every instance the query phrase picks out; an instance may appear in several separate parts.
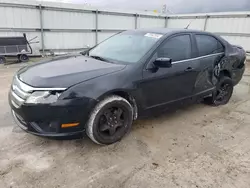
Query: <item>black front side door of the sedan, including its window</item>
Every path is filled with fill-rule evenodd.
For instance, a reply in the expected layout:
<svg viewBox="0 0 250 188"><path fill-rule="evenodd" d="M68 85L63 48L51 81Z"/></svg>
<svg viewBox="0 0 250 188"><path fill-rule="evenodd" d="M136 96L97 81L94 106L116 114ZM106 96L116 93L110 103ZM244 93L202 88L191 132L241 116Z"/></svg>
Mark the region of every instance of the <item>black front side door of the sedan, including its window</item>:
<svg viewBox="0 0 250 188"><path fill-rule="evenodd" d="M175 35L158 47L149 62L156 58L171 58L172 67L143 71L141 89L146 108L162 106L192 95L199 73L199 60L193 57L190 34Z"/></svg>

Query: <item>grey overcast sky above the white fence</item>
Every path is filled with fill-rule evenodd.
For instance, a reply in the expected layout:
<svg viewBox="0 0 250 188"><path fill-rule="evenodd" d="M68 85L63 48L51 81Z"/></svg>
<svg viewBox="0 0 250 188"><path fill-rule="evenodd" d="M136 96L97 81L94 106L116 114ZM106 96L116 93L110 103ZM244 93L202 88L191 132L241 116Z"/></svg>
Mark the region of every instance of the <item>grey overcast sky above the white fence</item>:
<svg viewBox="0 0 250 188"><path fill-rule="evenodd" d="M250 0L54 0L89 3L92 6L131 10L161 10L163 4L174 13L250 11Z"/></svg>

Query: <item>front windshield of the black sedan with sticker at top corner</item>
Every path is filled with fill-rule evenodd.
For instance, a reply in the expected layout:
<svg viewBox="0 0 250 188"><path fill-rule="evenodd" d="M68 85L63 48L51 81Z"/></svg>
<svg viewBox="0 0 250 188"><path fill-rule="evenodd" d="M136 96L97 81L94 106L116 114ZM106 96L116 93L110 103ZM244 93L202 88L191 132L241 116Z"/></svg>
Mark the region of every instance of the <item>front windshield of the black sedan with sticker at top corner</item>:
<svg viewBox="0 0 250 188"><path fill-rule="evenodd" d="M162 37L154 33L120 33L89 51L89 56L114 62L136 63Z"/></svg>

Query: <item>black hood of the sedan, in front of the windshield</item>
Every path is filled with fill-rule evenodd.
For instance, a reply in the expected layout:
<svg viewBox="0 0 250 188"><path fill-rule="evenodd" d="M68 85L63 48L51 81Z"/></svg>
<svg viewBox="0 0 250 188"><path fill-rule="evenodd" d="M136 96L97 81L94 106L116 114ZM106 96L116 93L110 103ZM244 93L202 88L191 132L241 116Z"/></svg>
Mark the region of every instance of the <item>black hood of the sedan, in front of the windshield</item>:
<svg viewBox="0 0 250 188"><path fill-rule="evenodd" d="M18 72L33 87L68 88L80 82L122 70L125 65L99 61L82 55L69 55L25 67Z"/></svg>

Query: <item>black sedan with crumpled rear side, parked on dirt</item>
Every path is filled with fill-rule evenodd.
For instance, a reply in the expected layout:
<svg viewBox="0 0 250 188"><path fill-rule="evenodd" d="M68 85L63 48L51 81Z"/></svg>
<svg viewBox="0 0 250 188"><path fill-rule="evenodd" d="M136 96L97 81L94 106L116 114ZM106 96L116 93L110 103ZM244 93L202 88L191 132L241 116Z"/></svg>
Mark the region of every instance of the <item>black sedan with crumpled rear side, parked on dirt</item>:
<svg viewBox="0 0 250 188"><path fill-rule="evenodd" d="M9 104L17 124L46 137L87 135L112 144L133 120L183 104L226 104L245 51L211 33L139 29L97 46L22 68Z"/></svg>

